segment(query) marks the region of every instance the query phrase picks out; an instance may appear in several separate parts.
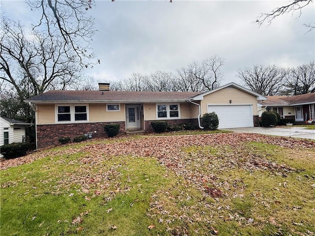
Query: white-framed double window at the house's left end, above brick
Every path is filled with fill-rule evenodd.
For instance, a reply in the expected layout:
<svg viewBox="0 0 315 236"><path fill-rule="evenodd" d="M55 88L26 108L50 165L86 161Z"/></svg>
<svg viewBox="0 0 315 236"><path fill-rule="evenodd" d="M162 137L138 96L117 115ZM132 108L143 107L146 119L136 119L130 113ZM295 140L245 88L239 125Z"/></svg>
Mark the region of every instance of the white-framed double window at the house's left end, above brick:
<svg viewBox="0 0 315 236"><path fill-rule="evenodd" d="M57 105L56 122L88 121L87 105Z"/></svg>

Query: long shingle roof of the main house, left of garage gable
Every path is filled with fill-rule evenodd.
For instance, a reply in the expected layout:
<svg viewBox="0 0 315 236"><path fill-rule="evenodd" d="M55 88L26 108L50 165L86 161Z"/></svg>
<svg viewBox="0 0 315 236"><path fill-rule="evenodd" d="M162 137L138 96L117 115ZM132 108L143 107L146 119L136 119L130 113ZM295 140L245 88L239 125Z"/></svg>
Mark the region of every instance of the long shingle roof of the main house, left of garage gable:
<svg viewBox="0 0 315 236"><path fill-rule="evenodd" d="M199 94L201 92L51 90L25 102L181 102Z"/></svg>

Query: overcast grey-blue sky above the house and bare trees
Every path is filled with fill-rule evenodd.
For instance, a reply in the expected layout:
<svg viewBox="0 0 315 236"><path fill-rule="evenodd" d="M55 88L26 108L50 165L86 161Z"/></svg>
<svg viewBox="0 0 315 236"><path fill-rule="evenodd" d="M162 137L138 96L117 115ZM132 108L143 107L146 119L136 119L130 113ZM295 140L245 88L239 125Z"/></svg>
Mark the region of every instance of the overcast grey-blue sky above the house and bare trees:
<svg viewBox="0 0 315 236"><path fill-rule="evenodd" d="M237 69L254 64L294 67L315 59L315 5L302 16L285 14L270 26L253 24L260 13L288 1L96 1L88 11L98 30L92 47L100 64L86 69L97 82L118 81L133 72L175 72L193 60L225 59L221 82L240 83ZM36 23L24 1L1 0L1 10L26 25Z"/></svg>

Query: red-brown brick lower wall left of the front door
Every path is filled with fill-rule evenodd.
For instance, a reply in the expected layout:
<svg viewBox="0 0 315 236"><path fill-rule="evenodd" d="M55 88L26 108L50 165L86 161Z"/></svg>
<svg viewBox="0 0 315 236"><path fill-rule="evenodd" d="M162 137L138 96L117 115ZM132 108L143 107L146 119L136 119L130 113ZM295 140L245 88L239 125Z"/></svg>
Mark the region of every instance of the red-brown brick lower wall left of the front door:
<svg viewBox="0 0 315 236"><path fill-rule="evenodd" d="M60 145L60 137L74 137L92 132L93 138L107 137L104 131L105 124L119 124L120 132L126 132L125 122L102 122L102 123L72 123L72 124L37 124L37 148L46 148ZM96 133L94 132L96 131Z"/></svg>

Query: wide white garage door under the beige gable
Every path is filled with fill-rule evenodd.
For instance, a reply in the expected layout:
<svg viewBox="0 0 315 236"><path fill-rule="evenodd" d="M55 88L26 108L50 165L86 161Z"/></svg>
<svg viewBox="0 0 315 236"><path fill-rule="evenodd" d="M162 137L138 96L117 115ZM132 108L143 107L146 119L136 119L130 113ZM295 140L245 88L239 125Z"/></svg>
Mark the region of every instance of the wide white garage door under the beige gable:
<svg viewBox="0 0 315 236"><path fill-rule="evenodd" d="M252 105L208 105L219 117L219 129L253 127Z"/></svg>

